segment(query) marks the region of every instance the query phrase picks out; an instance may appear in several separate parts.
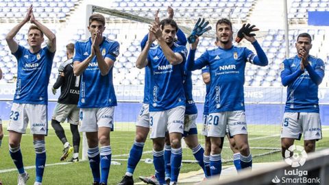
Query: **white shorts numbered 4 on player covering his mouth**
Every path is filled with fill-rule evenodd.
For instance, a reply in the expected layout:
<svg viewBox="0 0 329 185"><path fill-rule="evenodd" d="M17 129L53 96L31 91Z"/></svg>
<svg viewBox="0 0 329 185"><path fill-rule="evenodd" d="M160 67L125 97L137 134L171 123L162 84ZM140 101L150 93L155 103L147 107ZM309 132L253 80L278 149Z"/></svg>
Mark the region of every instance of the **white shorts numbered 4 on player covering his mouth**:
<svg viewBox="0 0 329 185"><path fill-rule="evenodd" d="M113 128L114 107L80 108L80 132L97 132L98 127Z"/></svg>

